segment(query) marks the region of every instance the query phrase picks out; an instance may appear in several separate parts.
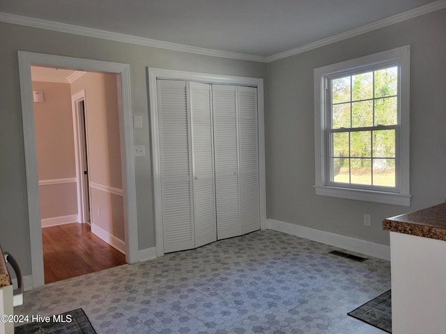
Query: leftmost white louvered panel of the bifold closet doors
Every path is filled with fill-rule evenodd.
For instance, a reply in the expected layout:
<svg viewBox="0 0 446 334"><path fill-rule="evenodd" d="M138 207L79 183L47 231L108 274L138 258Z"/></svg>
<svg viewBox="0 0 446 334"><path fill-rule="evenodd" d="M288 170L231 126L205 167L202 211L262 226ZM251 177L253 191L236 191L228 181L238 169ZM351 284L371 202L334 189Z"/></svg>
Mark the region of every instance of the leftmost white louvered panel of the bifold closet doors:
<svg viewBox="0 0 446 334"><path fill-rule="evenodd" d="M185 81L157 80L164 253L194 248Z"/></svg>

